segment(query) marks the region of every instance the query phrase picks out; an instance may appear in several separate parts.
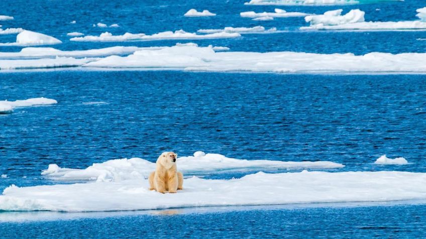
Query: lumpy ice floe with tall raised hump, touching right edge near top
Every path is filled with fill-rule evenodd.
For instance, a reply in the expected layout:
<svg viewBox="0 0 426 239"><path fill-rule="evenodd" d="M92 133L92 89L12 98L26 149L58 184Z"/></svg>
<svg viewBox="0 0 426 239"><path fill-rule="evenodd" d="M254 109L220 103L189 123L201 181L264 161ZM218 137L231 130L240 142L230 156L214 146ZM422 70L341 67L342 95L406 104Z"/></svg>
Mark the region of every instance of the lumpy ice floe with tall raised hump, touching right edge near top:
<svg viewBox="0 0 426 239"><path fill-rule="evenodd" d="M362 31L404 31L426 30L426 8L417 9L419 21L399 22L365 22L363 11L351 10L342 15L342 9L328 11L323 15L306 16L305 21L309 27L301 27L300 30L362 30Z"/></svg>

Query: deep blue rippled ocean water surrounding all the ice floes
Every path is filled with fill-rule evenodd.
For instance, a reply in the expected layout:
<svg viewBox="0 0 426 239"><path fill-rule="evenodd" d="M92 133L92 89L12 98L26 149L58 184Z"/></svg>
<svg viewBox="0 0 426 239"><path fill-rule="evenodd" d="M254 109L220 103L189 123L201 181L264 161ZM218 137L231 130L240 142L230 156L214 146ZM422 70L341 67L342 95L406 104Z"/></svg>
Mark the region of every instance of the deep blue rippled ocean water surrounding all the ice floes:
<svg viewBox="0 0 426 239"><path fill-rule="evenodd" d="M426 32L297 32L303 18L255 22L245 11L274 6L246 1L12 1L1 15L22 27L54 36L60 50L110 46L172 46L196 42L232 51L313 53L424 52ZM423 1L338 7L282 7L324 13L359 8L366 21L415 20ZM190 8L215 18L184 18ZM281 7L278 7L281 8ZM71 21L76 24L69 24ZM92 24L120 28L93 28ZM77 43L66 33L98 35L202 28L276 27L287 32L238 39ZM0 35L14 42L15 35ZM0 47L0 51L20 51ZM64 183L40 175L48 164L85 168L124 157L154 161L162 151L191 155L202 150L244 159L328 160L343 169L425 172L426 76L191 73L178 71L43 70L0 73L0 100L48 97L57 105L17 109L0 115L0 191L18 186ZM102 102L87 104L89 102ZM410 164L380 166L379 156L405 157ZM248 172L246 172L248 173ZM246 174L244 173L244 174ZM241 177L243 173L204 175ZM73 214L0 212L0 237L424 237L423 204L351 204L306 207L247 207L205 211ZM152 215L152 213L155 213ZM14 218L30 218L14 220ZM42 217L38 220L37 218ZM35 218L35 219L31 219ZM10 221L8 221L10 220ZM174 227L178 225L178 227ZM162 228L173 227L172 231ZM172 234L170 234L172 233Z"/></svg>

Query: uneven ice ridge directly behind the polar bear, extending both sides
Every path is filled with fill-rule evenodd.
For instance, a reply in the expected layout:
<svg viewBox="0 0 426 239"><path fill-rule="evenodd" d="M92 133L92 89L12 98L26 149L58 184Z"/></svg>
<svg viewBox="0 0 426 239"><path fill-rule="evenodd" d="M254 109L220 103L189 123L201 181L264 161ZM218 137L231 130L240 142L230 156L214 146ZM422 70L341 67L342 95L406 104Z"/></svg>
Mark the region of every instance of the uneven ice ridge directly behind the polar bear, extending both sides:
<svg viewBox="0 0 426 239"><path fill-rule="evenodd" d="M179 171L186 175L218 173L226 171L260 171L292 169L341 168L344 165L330 161L284 162L273 160L242 160L228 158L221 154L197 151L194 156L180 157L176 161ZM122 181L144 179L155 170L155 162L142 158L114 159L103 163L94 163L86 169L61 168L50 164L42 175L57 180L96 180Z"/></svg>

